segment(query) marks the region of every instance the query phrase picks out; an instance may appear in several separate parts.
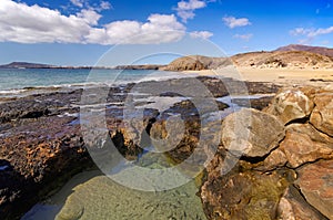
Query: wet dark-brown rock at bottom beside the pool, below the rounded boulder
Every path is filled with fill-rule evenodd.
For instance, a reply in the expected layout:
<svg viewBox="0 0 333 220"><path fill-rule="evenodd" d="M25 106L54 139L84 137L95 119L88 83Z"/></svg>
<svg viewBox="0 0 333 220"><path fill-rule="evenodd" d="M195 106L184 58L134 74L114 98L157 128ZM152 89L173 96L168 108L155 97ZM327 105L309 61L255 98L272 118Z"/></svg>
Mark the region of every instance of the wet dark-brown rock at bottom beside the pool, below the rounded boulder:
<svg viewBox="0 0 333 220"><path fill-rule="evenodd" d="M201 188L204 211L209 219L276 219L285 185L278 172L209 176Z"/></svg>

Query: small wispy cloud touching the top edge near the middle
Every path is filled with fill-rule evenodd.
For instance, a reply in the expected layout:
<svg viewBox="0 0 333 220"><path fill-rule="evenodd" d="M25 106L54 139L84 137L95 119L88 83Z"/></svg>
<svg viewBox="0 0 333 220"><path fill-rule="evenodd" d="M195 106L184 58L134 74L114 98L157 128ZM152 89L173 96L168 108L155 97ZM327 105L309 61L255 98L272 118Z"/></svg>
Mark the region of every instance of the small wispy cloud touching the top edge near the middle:
<svg viewBox="0 0 333 220"><path fill-rule="evenodd" d="M195 17L194 11L196 9L202 9L205 7L206 2L203 0L182 0L178 2L178 7L175 8L175 10L176 14L182 19L182 21L186 22L189 19L193 19Z"/></svg>

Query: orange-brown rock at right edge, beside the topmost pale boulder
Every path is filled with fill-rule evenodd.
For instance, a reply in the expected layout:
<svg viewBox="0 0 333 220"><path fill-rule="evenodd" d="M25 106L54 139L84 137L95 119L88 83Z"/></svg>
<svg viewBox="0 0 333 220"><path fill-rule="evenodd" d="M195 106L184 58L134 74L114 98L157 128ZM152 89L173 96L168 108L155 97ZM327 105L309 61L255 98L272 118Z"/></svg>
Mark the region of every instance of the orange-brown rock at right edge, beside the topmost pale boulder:
<svg viewBox="0 0 333 220"><path fill-rule="evenodd" d="M310 122L319 130L333 136L333 92L317 94L314 98L315 108Z"/></svg>

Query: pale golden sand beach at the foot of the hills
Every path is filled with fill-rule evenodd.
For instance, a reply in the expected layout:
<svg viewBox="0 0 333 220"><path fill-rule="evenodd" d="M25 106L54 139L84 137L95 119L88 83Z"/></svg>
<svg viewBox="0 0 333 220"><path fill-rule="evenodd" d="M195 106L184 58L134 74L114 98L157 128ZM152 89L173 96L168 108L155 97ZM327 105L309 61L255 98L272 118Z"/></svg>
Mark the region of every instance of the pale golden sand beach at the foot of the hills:
<svg viewBox="0 0 333 220"><path fill-rule="evenodd" d="M252 69L233 67L208 70L208 71L185 71L183 73L195 73L205 76L225 76L249 82L270 82L280 85L314 85L325 86L333 84L333 69L331 70L292 70L292 69ZM317 80L313 82L311 80ZM324 82L322 82L324 81Z"/></svg>

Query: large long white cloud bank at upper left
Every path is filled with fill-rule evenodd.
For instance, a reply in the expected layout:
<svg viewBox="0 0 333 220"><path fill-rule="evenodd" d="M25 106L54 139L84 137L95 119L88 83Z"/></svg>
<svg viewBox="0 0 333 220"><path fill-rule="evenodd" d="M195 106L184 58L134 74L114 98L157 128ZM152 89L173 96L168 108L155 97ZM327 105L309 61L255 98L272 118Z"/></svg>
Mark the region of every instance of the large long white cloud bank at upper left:
<svg viewBox="0 0 333 220"><path fill-rule="evenodd" d="M0 42L165 43L180 40L185 34L185 27L178 22L174 14L151 14L147 22L125 20L104 25L99 24L100 18L101 14L92 9L63 15L37 4L1 0ZM141 36L133 38L138 34Z"/></svg>

